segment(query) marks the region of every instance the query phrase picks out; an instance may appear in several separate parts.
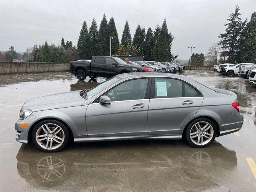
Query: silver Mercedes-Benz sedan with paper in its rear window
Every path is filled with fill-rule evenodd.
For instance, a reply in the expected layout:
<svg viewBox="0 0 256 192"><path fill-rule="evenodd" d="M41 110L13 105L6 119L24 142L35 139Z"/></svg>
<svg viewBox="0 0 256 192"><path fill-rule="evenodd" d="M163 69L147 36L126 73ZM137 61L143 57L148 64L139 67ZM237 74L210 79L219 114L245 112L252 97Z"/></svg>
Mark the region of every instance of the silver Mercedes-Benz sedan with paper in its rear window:
<svg viewBox="0 0 256 192"><path fill-rule="evenodd" d="M181 139L208 146L240 130L236 94L182 75L126 73L82 91L28 100L15 124L16 140L57 152L68 140Z"/></svg>

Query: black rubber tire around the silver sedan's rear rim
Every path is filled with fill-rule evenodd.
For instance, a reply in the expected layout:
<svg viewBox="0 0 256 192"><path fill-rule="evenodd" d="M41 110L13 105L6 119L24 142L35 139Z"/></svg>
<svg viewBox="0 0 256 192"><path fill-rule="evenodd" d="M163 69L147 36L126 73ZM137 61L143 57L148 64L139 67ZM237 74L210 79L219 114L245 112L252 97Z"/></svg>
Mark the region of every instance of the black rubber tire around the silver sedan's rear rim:
<svg viewBox="0 0 256 192"><path fill-rule="evenodd" d="M212 126L212 128L213 128L213 136L212 136L212 139L211 139L208 143L206 143L206 144L204 144L204 145L197 145L197 144L195 144L195 143L192 141L192 139L190 138L190 130L192 129L192 127L194 126L194 124L196 124L196 123L198 123L198 122L208 122L208 123ZM198 118L198 119L192 121L192 122L188 125L188 127L187 127L187 129L186 129L186 140L188 141L188 143L189 143L192 147L195 147L195 148L203 148L203 147L206 147L206 146L210 145L210 144L214 141L214 139L215 139L215 137L216 137L216 132L217 132L217 131L216 131L216 126L215 126L214 122L212 122L211 120L209 120L209 119L207 119L207 118Z"/></svg>

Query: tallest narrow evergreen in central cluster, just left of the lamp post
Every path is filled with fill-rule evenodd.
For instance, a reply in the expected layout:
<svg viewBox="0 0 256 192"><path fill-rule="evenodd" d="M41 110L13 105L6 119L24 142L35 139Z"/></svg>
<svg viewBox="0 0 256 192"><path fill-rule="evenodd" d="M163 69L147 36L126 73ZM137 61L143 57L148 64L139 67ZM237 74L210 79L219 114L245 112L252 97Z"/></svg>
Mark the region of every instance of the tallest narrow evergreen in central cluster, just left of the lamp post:
<svg viewBox="0 0 256 192"><path fill-rule="evenodd" d="M99 42L99 55L109 55L109 36L108 36L108 22L106 15L103 15L103 18L100 23L98 42Z"/></svg>

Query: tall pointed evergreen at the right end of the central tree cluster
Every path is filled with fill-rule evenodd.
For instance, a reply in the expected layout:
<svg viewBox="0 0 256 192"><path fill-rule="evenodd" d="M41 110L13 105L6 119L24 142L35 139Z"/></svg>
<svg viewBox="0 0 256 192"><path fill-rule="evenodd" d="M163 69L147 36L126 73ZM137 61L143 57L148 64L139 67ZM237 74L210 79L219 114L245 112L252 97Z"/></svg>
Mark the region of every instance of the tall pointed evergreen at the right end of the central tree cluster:
<svg viewBox="0 0 256 192"><path fill-rule="evenodd" d="M168 33L166 19L162 24L160 33L156 40L156 53L158 61L172 61L174 56L171 53L173 36L171 33Z"/></svg>

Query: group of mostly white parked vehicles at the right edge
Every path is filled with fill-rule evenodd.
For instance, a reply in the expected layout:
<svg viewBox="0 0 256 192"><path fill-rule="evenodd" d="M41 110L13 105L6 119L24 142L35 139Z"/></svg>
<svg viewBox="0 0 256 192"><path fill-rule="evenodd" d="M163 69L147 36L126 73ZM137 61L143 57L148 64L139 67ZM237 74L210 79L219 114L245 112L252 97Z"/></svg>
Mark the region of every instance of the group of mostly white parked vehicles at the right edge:
<svg viewBox="0 0 256 192"><path fill-rule="evenodd" d="M221 72L227 76L243 76L244 78L248 78L249 82L252 84L256 84L256 64L253 63L238 63L238 64L220 64L218 66L214 65L214 69L217 72Z"/></svg>

